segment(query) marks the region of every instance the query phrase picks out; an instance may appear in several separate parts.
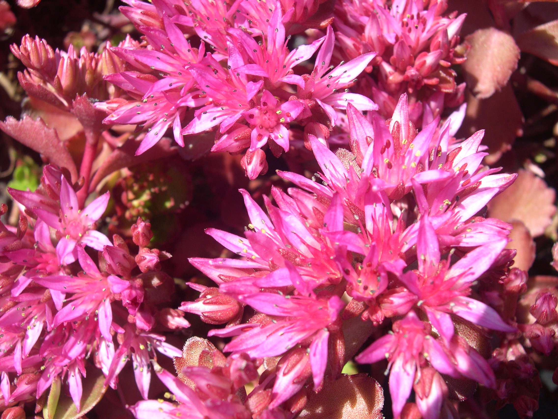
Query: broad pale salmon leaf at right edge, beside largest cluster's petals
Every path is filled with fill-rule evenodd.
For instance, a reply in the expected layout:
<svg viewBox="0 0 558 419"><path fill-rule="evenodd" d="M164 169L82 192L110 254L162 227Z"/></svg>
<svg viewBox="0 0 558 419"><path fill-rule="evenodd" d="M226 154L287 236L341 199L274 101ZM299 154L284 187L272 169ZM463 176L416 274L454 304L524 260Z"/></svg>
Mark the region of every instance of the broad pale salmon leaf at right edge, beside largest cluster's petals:
<svg viewBox="0 0 558 419"><path fill-rule="evenodd" d="M554 189L527 170L519 170L516 181L488 203L490 217L522 221L533 237L540 236L556 212Z"/></svg>

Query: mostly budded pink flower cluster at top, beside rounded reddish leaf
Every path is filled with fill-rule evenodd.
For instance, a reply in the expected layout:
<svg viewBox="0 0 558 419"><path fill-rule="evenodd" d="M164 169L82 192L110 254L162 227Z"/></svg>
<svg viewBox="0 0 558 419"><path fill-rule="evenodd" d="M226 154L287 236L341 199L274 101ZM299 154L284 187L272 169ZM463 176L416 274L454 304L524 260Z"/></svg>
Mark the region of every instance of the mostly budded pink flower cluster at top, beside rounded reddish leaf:
<svg viewBox="0 0 558 419"><path fill-rule="evenodd" d="M388 6L389 3L389 6ZM466 15L444 16L448 2L348 0L335 4L335 28L343 59L374 51L369 96L388 118L400 94L409 94L410 118L426 125L444 106L463 102L465 83L456 84L453 64L465 61L459 31Z"/></svg>

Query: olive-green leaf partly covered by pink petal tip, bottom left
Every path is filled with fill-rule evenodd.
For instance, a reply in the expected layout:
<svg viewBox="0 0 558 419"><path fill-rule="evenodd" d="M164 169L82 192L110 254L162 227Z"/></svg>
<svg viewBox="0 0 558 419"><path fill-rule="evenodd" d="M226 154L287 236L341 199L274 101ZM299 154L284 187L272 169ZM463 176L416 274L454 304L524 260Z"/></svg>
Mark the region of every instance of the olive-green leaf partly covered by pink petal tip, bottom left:
<svg viewBox="0 0 558 419"><path fill-rule="evenodd" d="M104 385L104 375L97 368L88 368L87 377L83 379L83 395L81 396L81 411L78 413L70 396L60 394L56 412L51 419L77 419L95 407L103 397L107 387ZM50 399L50 395L49 395ZM45 417L46 419L46 417Z"/></svg>

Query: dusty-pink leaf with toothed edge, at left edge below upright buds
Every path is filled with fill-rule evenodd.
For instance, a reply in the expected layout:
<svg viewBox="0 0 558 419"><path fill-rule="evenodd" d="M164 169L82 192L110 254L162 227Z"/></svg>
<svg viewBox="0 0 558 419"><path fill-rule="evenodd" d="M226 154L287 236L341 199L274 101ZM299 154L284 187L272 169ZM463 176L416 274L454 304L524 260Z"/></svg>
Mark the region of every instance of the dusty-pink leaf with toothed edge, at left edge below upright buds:
<svg viewBox="0 0 558 419"><path fill-rule="evenodd" d="M40 153L50 163L70 170L73 182L78 180L78 171L70 153L58 138L56 131L47 127L41 119L33 120L25 115L22 120L18 121L16 118L8 116L6 121L0 122L0 129L23 145Z"/></svg>

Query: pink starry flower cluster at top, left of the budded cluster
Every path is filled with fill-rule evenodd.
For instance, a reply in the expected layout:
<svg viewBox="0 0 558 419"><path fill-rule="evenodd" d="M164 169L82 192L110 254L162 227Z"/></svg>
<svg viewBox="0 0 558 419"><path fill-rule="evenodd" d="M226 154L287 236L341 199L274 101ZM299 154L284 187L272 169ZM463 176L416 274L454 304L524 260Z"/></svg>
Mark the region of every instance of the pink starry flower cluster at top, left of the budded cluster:
<svg viewBox="0 0 558 419"><path fill-rule="evenodd" d="M129 3L122 12L146 42L112 49L130 69L105 79L129 99L104 103L112 109L105 123L146 127L137 154L169 128L184 146L185 135L217 127L211 150L246 151L242 165L253 179L267 170L264 145L278 156L289 150L292 138L304 137L307 146L308 135L327 140L348 103L361 111L377 109L371 99L349 91L376 53L334 64L331 26L325 36L294 46L288 32L296 33L294 23L316 4L285 3ZM315 53L312 69L307 60ZM290 132L292 125L300 134Z"/></svg>

